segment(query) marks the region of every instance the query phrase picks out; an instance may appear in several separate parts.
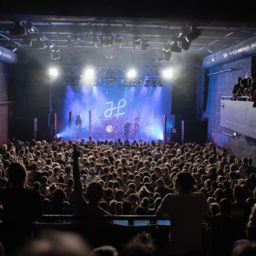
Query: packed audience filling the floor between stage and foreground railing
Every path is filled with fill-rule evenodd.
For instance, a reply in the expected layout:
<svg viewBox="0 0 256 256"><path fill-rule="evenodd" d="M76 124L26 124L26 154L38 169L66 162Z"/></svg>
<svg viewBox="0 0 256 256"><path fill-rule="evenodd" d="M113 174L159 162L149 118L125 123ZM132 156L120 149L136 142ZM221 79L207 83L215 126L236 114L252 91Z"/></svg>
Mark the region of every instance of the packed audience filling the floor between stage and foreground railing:
<svg viewBox="0 0 256 256"><path fill-rule="evenodd" d="M247 229L248 239L256 240L253 159L239 159L212 143L13 140L1 147L0 189L27 187L40 194L43 214L73 214L74 145L83 197L106 215L155 215L165 195L200 192L209 205L207 227L219 216L233 216L241 227L238 237Z"/></svg>

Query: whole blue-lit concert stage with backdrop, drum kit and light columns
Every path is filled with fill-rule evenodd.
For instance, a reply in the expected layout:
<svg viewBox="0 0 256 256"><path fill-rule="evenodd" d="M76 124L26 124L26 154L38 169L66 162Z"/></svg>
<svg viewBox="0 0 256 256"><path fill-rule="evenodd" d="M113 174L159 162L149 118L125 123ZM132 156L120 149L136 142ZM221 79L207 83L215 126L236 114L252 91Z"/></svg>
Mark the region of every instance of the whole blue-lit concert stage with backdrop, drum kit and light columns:
<svg viewBox="0 0 256 256"><path fill-rule="evenodd" d="M64 139L77 137L76 117L82 120L81 138L93 140L125 140L123 125L125 120L131 124L129 141L163 140L163 115L167 117L167 127L172 127L170 99L172 83L165 81L161 86L152 77L127 81L97 77L97 86L69 84L55 81L58 87L56 114L58 116L56 133ZM56 90L55 90L56 91ZM90 112L91 111L91 112ZM91 115L91 118L90 118ZM113 119L113 116L115 118ZM138 118L138 134L134 131L134 120Z"/></svg>

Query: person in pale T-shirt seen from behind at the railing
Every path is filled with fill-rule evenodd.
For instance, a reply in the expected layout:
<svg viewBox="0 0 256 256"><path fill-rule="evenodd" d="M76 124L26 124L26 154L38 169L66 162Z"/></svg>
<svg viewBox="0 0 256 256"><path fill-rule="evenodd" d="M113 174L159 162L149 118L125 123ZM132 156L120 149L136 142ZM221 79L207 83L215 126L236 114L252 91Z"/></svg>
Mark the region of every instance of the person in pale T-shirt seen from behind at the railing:
<svg viewBox="0 0 256 256"><path fill-rule="evenodd" d="M205 195L193 193L194 179L190 173L180 172L175 180L175 194L163 198L157 216L170 218L170 236L166 247L169 255L201 251L202 220L208 213Z"/></svg>

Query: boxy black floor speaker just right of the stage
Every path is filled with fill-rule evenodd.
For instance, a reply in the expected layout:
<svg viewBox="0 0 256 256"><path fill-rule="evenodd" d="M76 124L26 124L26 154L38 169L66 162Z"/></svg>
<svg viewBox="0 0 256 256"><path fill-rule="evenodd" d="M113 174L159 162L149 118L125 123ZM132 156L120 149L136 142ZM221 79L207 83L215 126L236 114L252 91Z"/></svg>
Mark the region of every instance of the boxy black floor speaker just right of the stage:
<svg viewBox="0 0 256 256"><path fill-rule="evenodd" d="M182 144L197 142L204 145L207 141L207 122L182 120Z"/></svg>

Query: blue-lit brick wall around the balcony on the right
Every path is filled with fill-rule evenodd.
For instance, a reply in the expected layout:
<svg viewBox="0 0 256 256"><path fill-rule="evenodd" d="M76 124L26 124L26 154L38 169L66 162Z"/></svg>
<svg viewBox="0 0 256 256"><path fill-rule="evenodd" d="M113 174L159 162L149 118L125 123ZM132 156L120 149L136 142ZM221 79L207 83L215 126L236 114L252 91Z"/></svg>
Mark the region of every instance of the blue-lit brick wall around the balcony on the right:
<svg viewBox="0 0 256 256"><path fill-rule="evenodd" d="M208 118L208 141L227 148L231 154L237 157L251 157L256 162L256 140L244 135L232 137L234 131L220 125L222 96L232 95L237 77L242 77L242 79L250 77L251 70L254 70L254 61L252 57L247 57L209 69L209 73L214 73L234 66L239 66L239 69L209 76L207 108L205 112L201 112L199 119ZM198 88L200 95L205 90L203 80L200 84L201 88ZM202 97L198 98L198 105L202 109Z"/></svg>

